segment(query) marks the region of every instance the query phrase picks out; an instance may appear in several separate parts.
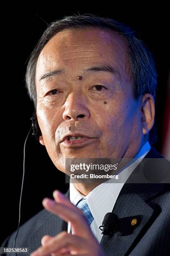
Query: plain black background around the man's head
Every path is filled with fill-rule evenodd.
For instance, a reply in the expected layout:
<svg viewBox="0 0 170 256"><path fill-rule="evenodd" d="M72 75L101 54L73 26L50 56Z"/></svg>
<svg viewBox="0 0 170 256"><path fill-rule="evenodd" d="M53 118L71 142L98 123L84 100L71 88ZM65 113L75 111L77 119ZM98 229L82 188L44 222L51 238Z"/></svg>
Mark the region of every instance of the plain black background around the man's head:
<svg viewBox="0 0 170 256"><path fill-rule="evenodd" d="M47 5L47 3L46 3ZM84 5L84 6L83 6ZM13 9L14 8L14 9ZM29 6L30 8L30 6ZM67 4L45 6L44 11L21 9L10 6L4 9L1 32L1 218L0 242L18 226L18 207L23 174L23 145L30 129L33 103L25 89L26 62L42 32L53 20L73 13L91 13L120 20L140 33L140 38L153 53L158 72L156 99L156 128L158 142L155 147L161 152L163 137L163 115L168 84L169 68L169 24L166 6L152 6L137 3L117 7L87 4L76 7ZM25 182L21 207L21 224L41 210L42 199L52 197L54 189L67 190L65 176L52 164L45 147L30 136L26 146Z"/></svg>

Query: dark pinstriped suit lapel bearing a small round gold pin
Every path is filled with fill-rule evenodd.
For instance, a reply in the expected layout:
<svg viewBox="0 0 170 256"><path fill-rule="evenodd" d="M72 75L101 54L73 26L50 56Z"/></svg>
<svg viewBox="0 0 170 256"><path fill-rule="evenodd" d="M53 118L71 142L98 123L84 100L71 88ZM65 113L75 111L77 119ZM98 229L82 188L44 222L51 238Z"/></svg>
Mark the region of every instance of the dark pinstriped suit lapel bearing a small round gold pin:
<svg viewBox="0 0 170 256"><path fill-rule="evenodd" d="M130 205L129 205L130 203ZM135 194L119 197L113 211L119 218L119 232L113 236L103 235L100 245L106 255L125 255L143 227L153 215L153 209ZM137 219L138 225L131 225ZM121 250L120 250L121 248Z"/></svg>

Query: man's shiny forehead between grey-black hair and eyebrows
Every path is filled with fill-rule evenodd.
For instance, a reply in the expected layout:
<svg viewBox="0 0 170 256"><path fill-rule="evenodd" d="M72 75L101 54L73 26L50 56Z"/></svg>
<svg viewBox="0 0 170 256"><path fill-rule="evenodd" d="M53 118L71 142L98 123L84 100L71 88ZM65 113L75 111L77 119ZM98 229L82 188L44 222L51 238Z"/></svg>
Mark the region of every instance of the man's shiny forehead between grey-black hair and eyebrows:
<svg viewBox="0 0 170 256"><path fill-rule="evenodd" d="M90 64L114 64L118 69L128 63L125 39L105 28L64 30L53 36L37 61L37 75L57 67L71 71Z"/></svg>

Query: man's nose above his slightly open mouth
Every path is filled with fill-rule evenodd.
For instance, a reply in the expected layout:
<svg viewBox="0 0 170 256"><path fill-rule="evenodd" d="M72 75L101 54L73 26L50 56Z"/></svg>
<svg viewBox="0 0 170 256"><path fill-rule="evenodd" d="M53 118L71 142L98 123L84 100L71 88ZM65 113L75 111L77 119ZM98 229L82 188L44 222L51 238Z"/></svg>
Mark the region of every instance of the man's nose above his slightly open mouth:
<svg viewBox="0 0 170 256"><path fill-rule="evenodd" d="M90 112L87 106L87 101L82 95L70 93L65 101L65 110L62 114L64 120L85 120L90 118Z"/></svg>

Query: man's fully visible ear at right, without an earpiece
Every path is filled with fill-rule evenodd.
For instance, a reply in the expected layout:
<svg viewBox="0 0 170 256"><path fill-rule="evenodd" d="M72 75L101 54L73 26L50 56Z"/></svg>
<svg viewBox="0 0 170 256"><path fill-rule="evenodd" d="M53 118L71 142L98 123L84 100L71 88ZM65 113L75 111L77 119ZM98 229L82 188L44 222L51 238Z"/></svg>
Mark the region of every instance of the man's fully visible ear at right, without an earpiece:
<svg viewBox="0 0 170 256"><path fill-rule="evenodd" d="M141 122L143 127L143 135L146 135L153 127L155 119L155 100L153 95L146 93L143 95L141 103Z"/></svg>

